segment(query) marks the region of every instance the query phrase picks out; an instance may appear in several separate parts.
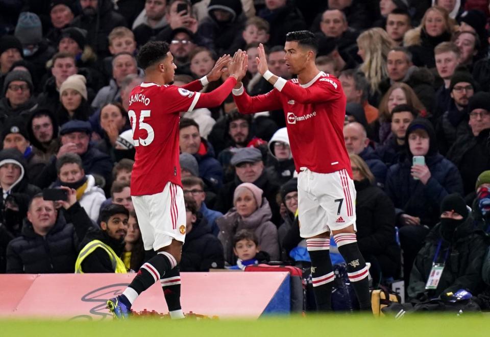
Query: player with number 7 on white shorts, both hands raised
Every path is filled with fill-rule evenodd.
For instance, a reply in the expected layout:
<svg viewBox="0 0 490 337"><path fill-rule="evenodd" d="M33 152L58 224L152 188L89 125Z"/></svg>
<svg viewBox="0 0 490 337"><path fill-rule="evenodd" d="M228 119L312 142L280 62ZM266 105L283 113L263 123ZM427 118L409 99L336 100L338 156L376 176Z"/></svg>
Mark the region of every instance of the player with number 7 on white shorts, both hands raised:
<svg viewBox="0 0 490 337"><path fill-rule="evenodd" d="M356 190L343 135L346 97L340 81L316 67L317 49L316 38L309 31L286 35L286 66L298 76L287 81L268 70L264 47L259 45L258 71L274 89L250 97L238 81L233 95L241 113L284 111L298 172L300 234L306 238L311 258L318 310L331 310L335 276L329 255L330 233L347 262L360 308L368 310L369 271L357 246Z"/></svg>

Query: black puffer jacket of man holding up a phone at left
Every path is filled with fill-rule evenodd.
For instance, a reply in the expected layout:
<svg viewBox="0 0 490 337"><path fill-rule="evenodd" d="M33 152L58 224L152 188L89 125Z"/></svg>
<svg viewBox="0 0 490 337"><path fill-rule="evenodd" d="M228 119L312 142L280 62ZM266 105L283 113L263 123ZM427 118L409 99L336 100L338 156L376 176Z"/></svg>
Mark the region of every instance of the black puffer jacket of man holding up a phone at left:
<svg viewBox="0 0 490 337"><path fill-rule="evenodd" d="M54 227L41 236L24 221L22 235L7 247L7 273L73 273L80 238L92 226L79 203L58 214Z"/></svg>

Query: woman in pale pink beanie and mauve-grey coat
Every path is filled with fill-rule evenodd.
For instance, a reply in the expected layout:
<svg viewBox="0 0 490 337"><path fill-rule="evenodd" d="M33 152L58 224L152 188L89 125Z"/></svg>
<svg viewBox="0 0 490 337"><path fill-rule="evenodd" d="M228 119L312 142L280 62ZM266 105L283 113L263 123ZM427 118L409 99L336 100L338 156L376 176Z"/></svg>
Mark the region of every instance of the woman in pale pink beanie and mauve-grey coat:
<svg viewBox="0 0 490 337"><path fill-rule="evenodd" d="M233 235L240 229L255 232L259 239L260 251L266 252L272 260L279 258L277 228L271 222L272 211L263 191L252 183L242 183L233 195L234 207L222 218L216 219L219 227L218 238L223 244L225 261L236 263L233 254Z"/></svg>

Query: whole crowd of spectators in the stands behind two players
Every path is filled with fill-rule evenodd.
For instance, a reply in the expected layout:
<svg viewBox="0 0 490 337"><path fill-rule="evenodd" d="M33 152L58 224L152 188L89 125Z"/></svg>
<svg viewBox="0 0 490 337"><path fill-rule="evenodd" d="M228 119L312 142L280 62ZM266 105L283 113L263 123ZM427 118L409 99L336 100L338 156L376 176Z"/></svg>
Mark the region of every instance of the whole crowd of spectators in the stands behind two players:
<svg viewBox="0 0 490 337"><path fill-rule="evenodd" d="M285 34L307 29L318 38L318 68L339 78L347 97L357 237L374 286L403 278L412 300L489 292L488 5L0 0L0 273L141 266L128 115L144 77L141 45L169 43L179 86L208 74L219 56L245 50L244 86L257 95L273 89L257 71L259 43L269 70L291 79ZM286 125L282 110L240 114L231 94L217 108L182 112L181 271L309 261ZM413 165L414 156L424 163ZM67 200L42 198L55 187ZM427 290L441 246L448 267Z"/></svg>

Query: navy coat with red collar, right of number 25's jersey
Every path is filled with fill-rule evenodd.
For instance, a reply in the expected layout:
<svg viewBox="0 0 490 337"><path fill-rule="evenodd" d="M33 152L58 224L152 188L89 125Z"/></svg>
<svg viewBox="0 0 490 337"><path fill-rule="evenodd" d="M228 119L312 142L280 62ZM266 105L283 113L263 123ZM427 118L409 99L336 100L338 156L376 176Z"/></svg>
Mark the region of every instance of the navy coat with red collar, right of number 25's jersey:
<svg viewBox="0 0 490 337"><path fill-rule="evenodd" d="M204 153L201 153L201 149L198 153L193 154L194 158L198 161L199 176L209 181L214 188L220 188L223 185L223 167L217 161L214 154L214 149L210 142L201 138L201 148Z"/></svg>

